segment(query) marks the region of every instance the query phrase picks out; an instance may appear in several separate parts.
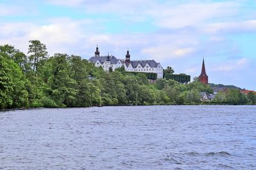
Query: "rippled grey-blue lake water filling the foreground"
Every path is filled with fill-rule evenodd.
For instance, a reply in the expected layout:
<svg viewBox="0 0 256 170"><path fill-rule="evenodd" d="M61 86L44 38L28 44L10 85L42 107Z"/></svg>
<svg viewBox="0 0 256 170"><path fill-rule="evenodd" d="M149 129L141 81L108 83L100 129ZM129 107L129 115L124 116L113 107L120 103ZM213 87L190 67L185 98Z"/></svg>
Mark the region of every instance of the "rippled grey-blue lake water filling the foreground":
<svg viewBox="0 0 256 170"><path fill-rule="evenodd" d="M256 106L0 112L0 169L256 169Z"/></svg>

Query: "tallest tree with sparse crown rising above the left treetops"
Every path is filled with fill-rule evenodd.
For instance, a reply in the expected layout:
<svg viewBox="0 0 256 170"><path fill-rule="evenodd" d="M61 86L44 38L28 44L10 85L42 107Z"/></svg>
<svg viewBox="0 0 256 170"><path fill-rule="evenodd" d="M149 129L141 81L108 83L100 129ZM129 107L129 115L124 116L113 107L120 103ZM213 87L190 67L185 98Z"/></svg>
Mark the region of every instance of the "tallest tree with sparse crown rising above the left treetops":
<svg viewBox="0 0 256 170"><path fill-rule="evenodd" d="M28 53L31 54L29 55L29 61L33 64L33 72L36 76L38 61L45 59L48 52L46 46L39 40L30 40L29 43Z"/></svg>

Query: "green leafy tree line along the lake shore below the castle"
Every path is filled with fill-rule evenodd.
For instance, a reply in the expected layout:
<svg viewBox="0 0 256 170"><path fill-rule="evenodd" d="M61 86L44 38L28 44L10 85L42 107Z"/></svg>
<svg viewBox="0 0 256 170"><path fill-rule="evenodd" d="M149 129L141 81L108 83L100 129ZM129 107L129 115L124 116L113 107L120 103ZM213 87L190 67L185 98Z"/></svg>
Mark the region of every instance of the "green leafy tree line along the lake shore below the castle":
<svg viewBox="0 0 256 170"><path fill-rule="evenodd" d="M77 55L49 56L38 40L29 41L28 53L12 45L0 46L0 109L88 107L132 104L200 104L199 92L212 93L199 81L188 84L158 79L154 74L106 72ZM230 89L211 103L255 104L254 93Z"/></svg>

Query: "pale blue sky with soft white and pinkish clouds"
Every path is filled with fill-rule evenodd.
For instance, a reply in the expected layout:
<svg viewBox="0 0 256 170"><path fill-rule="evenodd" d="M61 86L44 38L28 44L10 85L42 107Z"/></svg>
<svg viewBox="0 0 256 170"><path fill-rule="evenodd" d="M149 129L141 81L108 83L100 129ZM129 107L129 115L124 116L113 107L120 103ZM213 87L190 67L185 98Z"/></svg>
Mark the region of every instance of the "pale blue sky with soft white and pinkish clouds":
<svg viewBox="0 0 256 170"><path fill-rule="evenodd" d="M0 45L27 53L38 39L49 55L154 59L176 74L256 90L256 1L0 0Z"/></svg>

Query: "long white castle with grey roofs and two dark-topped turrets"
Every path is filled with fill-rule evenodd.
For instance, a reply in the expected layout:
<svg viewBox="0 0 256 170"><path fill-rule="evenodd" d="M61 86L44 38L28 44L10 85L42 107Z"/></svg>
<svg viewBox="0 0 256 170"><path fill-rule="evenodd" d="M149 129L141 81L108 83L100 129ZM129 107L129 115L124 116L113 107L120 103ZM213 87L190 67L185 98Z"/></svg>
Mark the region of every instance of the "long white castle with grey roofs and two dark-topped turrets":
<svg viewBox="0 0 256 170"><path fill-rule="evenodd" d="M99 47L96 47L94 57L89 60L95 66L101 66L105 71L109 71L112 67L113 71L116 68L124 66L125 71L141 72L141 73L157 73L157 78L163 78L163 67L155 60L130 60L131 55L129 50L124 59L116 59L115 56L100 56Z"/></svg>

